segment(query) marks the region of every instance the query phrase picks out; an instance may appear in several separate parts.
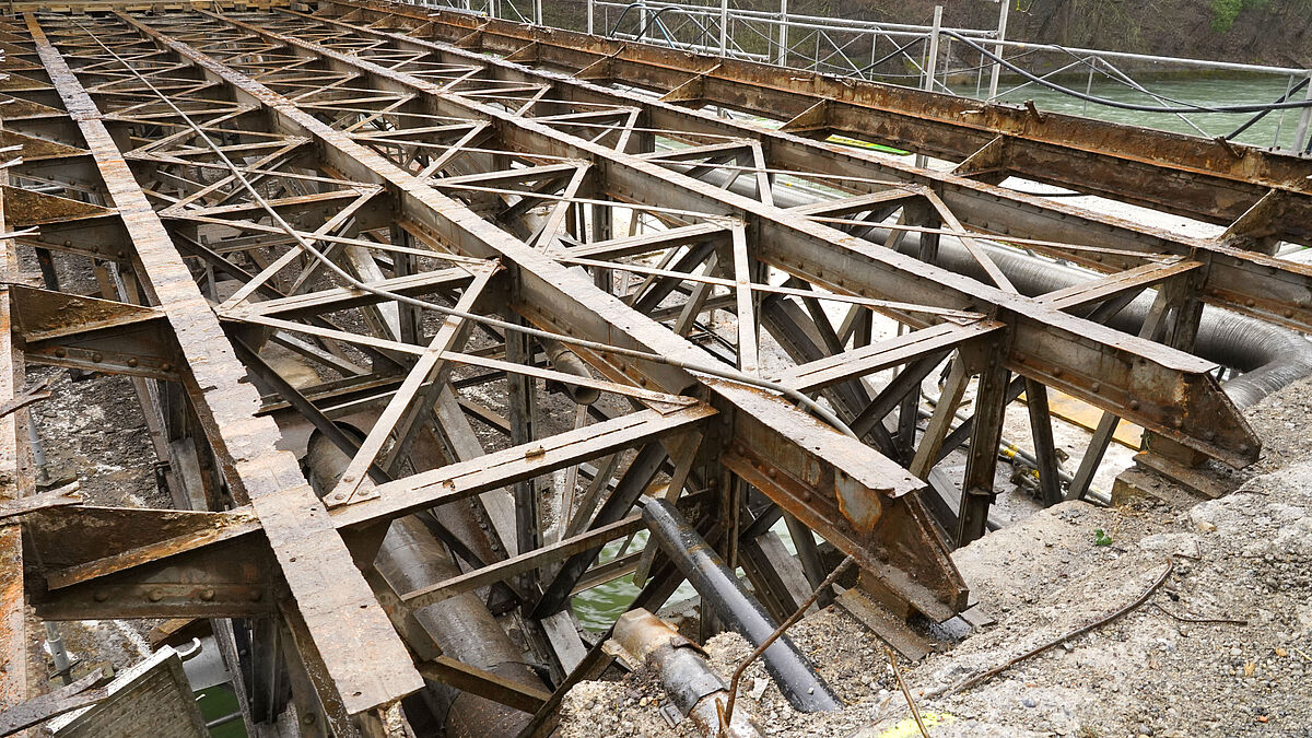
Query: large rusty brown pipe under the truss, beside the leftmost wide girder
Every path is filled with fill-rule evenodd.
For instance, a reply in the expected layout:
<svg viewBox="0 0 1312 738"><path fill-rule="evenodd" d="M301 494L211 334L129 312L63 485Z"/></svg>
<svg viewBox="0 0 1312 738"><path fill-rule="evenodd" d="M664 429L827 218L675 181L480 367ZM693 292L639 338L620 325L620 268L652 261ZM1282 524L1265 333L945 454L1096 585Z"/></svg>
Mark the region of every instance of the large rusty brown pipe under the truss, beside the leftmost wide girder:
<svg viewBox="0 0 1312 738"><path fill-rule="evenodd" d="M350 433L354 428L344 427ZM358 437L358 431L356 431ZM350 457L327 436L310 436L306 465L310 482L320 496L331 491L346 470ZM442 544L424 521L409 515L392 521L378 549L374 567L396 592L411 592L445 582L461 574ZM523 654L497 624L478 595L468 592L415 611L415 620L445 655L491 671L534 689L546 689L542 680L523 663ZM450 738L516 735L533 717L470 692L454 692L430 683L430 703L445 705L445 731Z"/></svg>

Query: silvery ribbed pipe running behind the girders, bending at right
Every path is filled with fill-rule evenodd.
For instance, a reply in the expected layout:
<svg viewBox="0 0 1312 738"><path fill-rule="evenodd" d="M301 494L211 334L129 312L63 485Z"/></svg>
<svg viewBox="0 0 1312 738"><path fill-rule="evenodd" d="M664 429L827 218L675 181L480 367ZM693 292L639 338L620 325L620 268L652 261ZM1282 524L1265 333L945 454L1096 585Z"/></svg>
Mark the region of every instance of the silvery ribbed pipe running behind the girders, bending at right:
<svg viewBox="0 0 1312 738"><path fill-rule="evenodd" d="M676 169L686 169L686 167L676 167ZM728 185L731 190L747 197L756 197L756 180L740 177L739 172L712 171L699 179L724 186L731 177L733 179L733 183ZM773 194L774 204L779 207L811 205L823 200L806 190L785 186L775 186ZM883 246L887 243L890 232L887 228L874 227L862 238ZM1092 272L1031 256L1012 247L987 242L983 242L983 246L1015 289L1029 297L1097 278ZM897 248L907 255L918 255L920 234L905 232ZM939 239L935 265L985 284L989 282L984 269L966 251L962 242L953 236L945 235ZM1145 290L1118 313L1107 326L1127 334L1138 334L1152 307L1152 298L1153 294ZM1242 372L1239 377L1221 385L1225 394L1240 410L1252 407L1266 395L1312 374L1312 341L1295 331L1211 305L1203 307L1193 353L1221 366Z"/></svg>

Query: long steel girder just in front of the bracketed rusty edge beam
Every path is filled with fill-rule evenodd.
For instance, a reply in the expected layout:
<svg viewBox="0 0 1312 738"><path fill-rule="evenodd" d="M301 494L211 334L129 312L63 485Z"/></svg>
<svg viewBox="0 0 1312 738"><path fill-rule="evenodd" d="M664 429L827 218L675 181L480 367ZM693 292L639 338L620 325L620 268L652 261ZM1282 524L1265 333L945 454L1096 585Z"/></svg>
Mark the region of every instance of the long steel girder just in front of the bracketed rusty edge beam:
<svg viewBox="0 0 1312 738"><path fill-rule="evenodd" d="M845 186L883 186L862 184L865 180L892 180L916 183L932 188L951 210L972 230L1012 238L1035 238L1065 242L1072 246L1096 246L1114 251L1141 255L1170 253L1199 259L1206 265L1202 285L1204 301L1228 307L1245 315L1287 326L1299 331L1312 331L1312 267L1275 259L1265 253L1239 248L1235 244L1211 239L1186 238L1178 234L1147 227L1130 221L1101 215L1051 198L1027 196L1017 190L994 186L970 177L946 172L917 169L890 159L875 158L846 146L827 144L787 131L765 129L732 118L722 118L712 110L698 110L660 100L643 100L632 95L602 87L605 75L579 72L577 77L559 74L550 67L534 68L534 59L505 60L489 58L466 46L476 46L482 35L466 28L468 16L433 14L399 4L359 4L336 0L331 8L353 13L367 21L369 28L342 24L333 17L315 17L323 22L348 28L375 38L387 38L403 49L430 50L443 58L478 62L496 68L499 79L537 81L551 85L568 100L584 102L613 102L640 108L647 125L674 131L712 133L741 139L758 139L771 165L799 172L817 172L834 177L851 177ZM291 13L291 11L285 11ZM502 21L495 21L502 24ZM395 30L375 28L374 24ZM513 25L513 24L512 24ZM499 26L501 28L501 26ZM526 33L514 26L516 33ZM409 33L405 33L409 32ZM568 32L541 32L551 38L577 38ZM436 34L436 35L429 35ZM586 38L586 37L584 37ZM517 45L514 49L520 49ZM631 45L630 45L631 46ZM501 49L502 53L510 49ZM598 62L605 63L605 60ZM596 81L593 81L596 80ZM921 95L917 92L917 95ZM926 93L928 95L928 93ZM771 117L764 113L765 117ZM782 121L781 122L786 122ZM1117 139L1140 133L1134 126L1118 126ZM1312 173L1312 165L1302 176ZM1099 272L1128 269L1140 263L1134 253L1102 253L1084 248L1034 246Z"/></svg>

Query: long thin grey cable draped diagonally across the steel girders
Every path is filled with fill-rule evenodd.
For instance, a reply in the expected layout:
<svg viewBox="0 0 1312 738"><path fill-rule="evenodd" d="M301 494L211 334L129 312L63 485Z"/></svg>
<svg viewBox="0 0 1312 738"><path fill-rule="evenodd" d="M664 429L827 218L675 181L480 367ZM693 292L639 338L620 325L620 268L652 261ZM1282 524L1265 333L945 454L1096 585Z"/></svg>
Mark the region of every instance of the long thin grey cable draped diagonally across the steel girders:
<svg viewBox="0 0 1312 738"><path fill-rule="evenodd" d="M800 391L798 391L798 390L795 390L792 387L785 386L778 380L762 380L762 378L758 378L758 377L752 377L750 374L745 374L743 372L724 369L724 368L720 368L720 366L710 366L710 365L705 365L705 364L694 364L694 362L689 362L689 361L681 361L678 358L670 358L668 356L661 356L659 353L651 353L651 352L646 352L646 351L636 351L636 349L631 349L631 348L623 348L623 347L604 344L604 343L600 343L600 341L584 340L584 339L579 339L579 337L569 336L569 335L565 335L565 334L554 334L551 331L542 331L542 330L533 328L533 327L529 327L529 326L520 326L520 324L512 323L509 320L501 320L499 318L488 318L485 315L478 315L476 313L466 313L463 310L455 310L455 309L451 309L451 307L446 307L443 305L425 302L422 299L415 299L412 297L403 295L403 294L396 294L396 293L392 293L392 292L387 292L384 289L379 289L379 288L375 288L373 285L369 285L367 282L362 282L362 281L357 280L349 272L346 272L345 269L342 269L341 267L338 267L333 260L331 260L327 256L324 256L318 248L315 248L314 246L311 246L310 242L306 240L306 238L303 235L300 235L300 232L298 232L295 228L293 228L291 225L287 223L282 218L282 215L279 215L278 211L274 210L274 207L269 205L269 202L264 198L264 196L261 196L255 189L255 186L251 184L251 181L245 179L245 175L243 175L237 169L237 165L234 164L231 159L228 159L227 154L224 154L218 147L218 144L214 143L214 141L209 137L209 134L206 134L195 123L195 121L193 121L186 113L184 113L177 105L174 105L173 101L168 98L168 96L165 96L163 92L160 92L154 84L151 84L150 80L147 80L140 72L138 72L135 67L133 67L131 64L129 64L126 60L123 60L122 56L119 56L117 53L114 53L113 49L110 49L109 46L105 46L105 43L96 34L88 32L87 28L83 26L81 24L75 24L75 25L77 25L77 28L81 29L83 33L88 34L92 39L94 39L96 43L98 43L101 49L104 49L106 53L109 53L109 55L112 55L119 64L122 64L123 67L126 67L127 71L133 72L133 75L138 80L140 80L142 84L144 84L147 88L150 88L150 91L154 92L156 97L159 97L161 101L164 101L165 105L168 105L180 118L182 118L182 121L186 122L188 127L190 127L198 137L201 137L201 141L203 141L206 143L206 146L209 146L210 150L214 151L215 156L218 156L219 160L223 162L223 164L232 172L232 176L235 176L237 179L237 181L241 183L241 186L244 186L251 193L251 196L255 198L256 204L260 205L260 207L262 207L273 218L274 223L277 223L277 226L279 228L282 228L283 231L286 231L287 235L291 236L291 239L297 242L298 247L300 247L306 253L311 255L315 260L318 260L320 264L323 264L327 269L329 269L333 273L336 273L338 277L341 277L342 280L345 280L352 286L354 286L357 289L361 289L361 290L365 290L365 292L367 292L370 294L377 294L378 297L383 297L386 299L394 299L396 302L401 302L401 303L411 305L411 306L415 306L415 307L420 307L420 309L424 309L424 310L433 310L434 313L440 313L440 314L447 315L450 318L459 318L462 320L470 320L470 322L475 322L475 323L483 323L485 326L497 327L497 328L501 328L504 331L517 331L520 334L523 334L523 335L527 335L527 336L533 336L533 337L537 337L537 339L556 340L556 341L560 341L560 343L567 344L567 345L573 345L573 347L579 347L579 348L586 348L586 349L597 351L597 352L601 352L601 353L613 353L613 355L618 355L618 356L627 356L630 358L639 358L639 360L643 360L643 361L652 361L652 362L657 362L657 364L665 364L665 365L674 366L674 368L678 368L678 369L685 369L687 372L702 373L702 374L707 374L707 376L711 376L711 377L715 377L715 378L719 378L719 380L726 380L726 381L729 381L729 382L737 382L740 385L747 385L747 386L752 386L752 387L758 387L758 389L765 389L765 390L771 390L771 391L782 393L789 399L795 401L798 404L802 404L803 407L806 407L807 410L810 410L811 412L813 412L816 416L819 416L825 423L829 423L830 425L833 425L838 432L841 432L845 436L849 436L851 439L859 440L857 437L857 435L851 431L851 428L849 428L846 423L844 423L842 420L840 420L837 415L834 415L833 412L830 412L828 408L825 408L824 406L821 406L816 401L808 398L803 393L800 393ZM434 253L434 255L440 256L438 253Z"/></svg>

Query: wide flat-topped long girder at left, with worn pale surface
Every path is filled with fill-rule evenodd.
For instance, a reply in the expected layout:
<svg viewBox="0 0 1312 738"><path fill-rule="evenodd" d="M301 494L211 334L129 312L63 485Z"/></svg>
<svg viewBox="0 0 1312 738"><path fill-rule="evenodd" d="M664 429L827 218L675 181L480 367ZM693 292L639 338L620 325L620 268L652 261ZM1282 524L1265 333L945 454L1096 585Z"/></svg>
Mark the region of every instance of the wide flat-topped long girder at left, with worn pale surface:
<svg viewBox="0 0 1312 738"><path fill-rule="evenodd" d="M270 419L253 415L260 398L245 369L182 263L159 215L142 193L104 117L64 56L28 16L28 33L59 97L96 159L106 192L127 228L133 260L151 302L164 313L186 358L182 383L239 500L249 500L273 548L291 599L308 625L311 649L348 714L386 706L419 689L422 679L350 552L332 527L295 457L277 450ZM333 696L332 699L336 699ZM346 729L348 726L342 726Z"/></svg>

